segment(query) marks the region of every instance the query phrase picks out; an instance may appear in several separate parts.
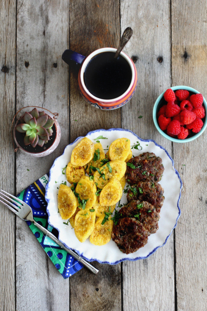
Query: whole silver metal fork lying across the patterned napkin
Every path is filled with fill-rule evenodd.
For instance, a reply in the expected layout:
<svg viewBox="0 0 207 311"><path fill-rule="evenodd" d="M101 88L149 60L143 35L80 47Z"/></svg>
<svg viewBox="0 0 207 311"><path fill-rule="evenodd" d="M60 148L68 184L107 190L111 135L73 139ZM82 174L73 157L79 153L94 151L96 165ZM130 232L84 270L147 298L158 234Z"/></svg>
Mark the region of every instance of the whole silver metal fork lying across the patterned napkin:
<svg viewBox="0 0 207 311"><path fill-rule="evenodd" d="M6 195L6 194L7 195ZM65 249L67 253L72 255L75 259L77 259L80 263L83 264L88 270L93 272L94 274L98 273L98 269L93 267L89 262L87 262L85 259L81 258L78 254L76 254L73 250L66 248L57 238L54 234L52 234L49 230L45 229L43 226L38 224L34 218L33 218L33 213L31 207L21 201L18 197L15 197L11 195L10 193L1 190L0 194L3 196L0 196L2 202L6 207L10 209L13 213L15 213L17 216L19 216L23 220L29 220L31 221L38 229L40 229L44 234L46 234L49 238L51 238L53 241L55 241L61 248ZM9 200L9 201L8 201Z"/></svg>

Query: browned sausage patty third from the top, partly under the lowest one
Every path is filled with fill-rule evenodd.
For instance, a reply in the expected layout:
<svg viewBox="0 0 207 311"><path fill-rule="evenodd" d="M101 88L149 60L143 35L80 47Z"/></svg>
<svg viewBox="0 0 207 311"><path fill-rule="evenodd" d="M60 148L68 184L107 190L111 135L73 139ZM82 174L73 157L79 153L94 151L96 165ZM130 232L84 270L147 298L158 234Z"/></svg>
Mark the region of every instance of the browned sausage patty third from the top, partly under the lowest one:
<svg viewBox="0 0 207 311"><path fill-rule="evenodd" d="M139 220L144 228L148 231L148 235L158 230L159 213L153 205L146 201L131 201L119 210L119 218L131 217Z"/></svg>

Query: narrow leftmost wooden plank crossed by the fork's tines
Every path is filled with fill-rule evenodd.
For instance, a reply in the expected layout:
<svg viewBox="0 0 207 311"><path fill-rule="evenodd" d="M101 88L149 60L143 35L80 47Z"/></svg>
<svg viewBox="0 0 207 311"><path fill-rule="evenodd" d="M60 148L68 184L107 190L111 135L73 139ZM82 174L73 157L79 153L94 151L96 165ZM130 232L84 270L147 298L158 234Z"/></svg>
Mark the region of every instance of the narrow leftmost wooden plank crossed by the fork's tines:
<svg viewBox="0 0 207 311"><path fill-rule="evenodd" d="M1 189L14 193L14 148L11 123L15 114L16 2L0 2L0 171ZM5 165L6 164L6 165ZM15 216L0 208L0 310L15 310Z"/></svg>

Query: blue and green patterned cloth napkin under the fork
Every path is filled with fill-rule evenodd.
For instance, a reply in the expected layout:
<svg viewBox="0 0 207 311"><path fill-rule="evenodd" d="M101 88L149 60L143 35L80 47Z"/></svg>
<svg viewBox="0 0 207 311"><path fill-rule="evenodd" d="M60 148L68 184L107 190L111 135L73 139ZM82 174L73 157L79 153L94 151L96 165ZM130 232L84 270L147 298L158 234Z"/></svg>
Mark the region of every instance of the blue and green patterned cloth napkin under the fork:
<svg viewBox="0 0 207 311"><path fill-rule="evenodd" d="M46 211L45 186L48 183L48 179L49 174L44 175L18 194L17 197L32 208L34 219L40 225L58 237L58 231L47 222L48 215ZM74 257L53 242L48 236L45 236L31 221L27 221L27 224L64 279L73 275L83 267Z"/></svg>

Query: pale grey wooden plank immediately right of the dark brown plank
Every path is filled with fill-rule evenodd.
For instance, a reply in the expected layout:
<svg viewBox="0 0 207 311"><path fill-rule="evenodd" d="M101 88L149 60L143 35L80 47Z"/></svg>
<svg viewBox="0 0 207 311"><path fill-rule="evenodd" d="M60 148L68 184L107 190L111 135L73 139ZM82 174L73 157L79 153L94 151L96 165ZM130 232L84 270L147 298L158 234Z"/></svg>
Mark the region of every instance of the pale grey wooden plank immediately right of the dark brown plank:
<svg viewBox="0 0 207 311"><path fill-rule="evenodd" d="M171 83L169 2L124 0L120 4L121 32L127 26L134 30L124 51L138 73L137 91L122 109L122 127L143 139L154 139L172 155L172 144L157 132L152 120L156 98ZM123 310L160 308L175 309L173 234L149 258L123 263Z"/></svg>

